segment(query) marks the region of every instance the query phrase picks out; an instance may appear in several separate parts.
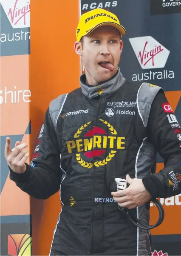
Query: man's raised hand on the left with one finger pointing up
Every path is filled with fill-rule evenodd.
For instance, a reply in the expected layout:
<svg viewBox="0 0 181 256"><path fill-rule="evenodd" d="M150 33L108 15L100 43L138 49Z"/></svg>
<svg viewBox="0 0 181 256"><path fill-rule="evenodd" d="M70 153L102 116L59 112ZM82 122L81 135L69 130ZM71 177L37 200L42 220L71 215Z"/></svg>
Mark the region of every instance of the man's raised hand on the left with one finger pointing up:
<svg viewBox="0 0 181 256"><path fill-rule="evenodd" d="M4 156L11 170L17 174L22 174L26 171L25 162L29 156L25 149L27 147L26 143L21 144L20 141L17 141L15 147L11 149L11 139L9 137L6 138Z"/></svg>

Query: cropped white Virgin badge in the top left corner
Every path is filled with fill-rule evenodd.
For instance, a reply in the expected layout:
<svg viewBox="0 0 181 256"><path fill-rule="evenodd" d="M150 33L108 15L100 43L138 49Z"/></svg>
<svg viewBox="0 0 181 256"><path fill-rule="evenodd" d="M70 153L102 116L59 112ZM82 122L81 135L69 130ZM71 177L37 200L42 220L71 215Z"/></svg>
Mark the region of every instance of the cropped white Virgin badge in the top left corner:
<svg viewBox="0 0 181 256"><path fill-rule="evenodd" d="M3 9L13 28L30 27L30 2L27 0L1 0Z"/></svg>

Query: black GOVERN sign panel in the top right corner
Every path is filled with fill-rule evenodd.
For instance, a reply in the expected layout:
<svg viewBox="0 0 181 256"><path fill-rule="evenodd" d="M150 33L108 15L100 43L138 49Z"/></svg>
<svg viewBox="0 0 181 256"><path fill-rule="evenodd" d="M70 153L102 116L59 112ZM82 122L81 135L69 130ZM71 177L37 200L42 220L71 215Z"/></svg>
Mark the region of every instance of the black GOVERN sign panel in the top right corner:
<svg viewBox="0 0 181 256"><path fill-rule="evenodd" d="M170 14L181 12L181 0L150 0L150 14Z"/></svg>

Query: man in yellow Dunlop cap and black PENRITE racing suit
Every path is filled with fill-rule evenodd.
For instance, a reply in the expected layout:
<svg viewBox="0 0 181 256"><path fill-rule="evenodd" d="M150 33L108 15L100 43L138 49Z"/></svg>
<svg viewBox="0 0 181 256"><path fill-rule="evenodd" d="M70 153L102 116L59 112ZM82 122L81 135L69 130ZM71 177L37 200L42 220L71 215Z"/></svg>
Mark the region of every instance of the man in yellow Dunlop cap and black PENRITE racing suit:
<svg viewBox="0 0 181 256"><path fill-rule="evenodd" d="M31 196L61 191L62 210L51 255L150 255L149 231L134 226L121 207L149 224L153 197L181 193L180 126L164 91L127 82L118 67L125 28L94 9L80 18L75 43L85 74L81 88L50 103L31 166L27 145L6 140L10 179ZM164 169L155 174L157 151ZM129 185L117 191L115 178Z"/></svg>

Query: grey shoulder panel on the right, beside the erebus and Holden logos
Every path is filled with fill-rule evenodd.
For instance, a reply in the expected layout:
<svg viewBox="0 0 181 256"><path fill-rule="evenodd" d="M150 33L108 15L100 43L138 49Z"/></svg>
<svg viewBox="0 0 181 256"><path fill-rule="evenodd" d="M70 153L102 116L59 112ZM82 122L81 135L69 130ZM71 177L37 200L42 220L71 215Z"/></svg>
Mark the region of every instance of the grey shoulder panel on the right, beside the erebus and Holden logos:
<svg viewBox="0 0 181 256"><path fill-rule="evenodd" d="M147 127L151 105L159 90L163 89L157 85L152 85L147 82L142 83L139 87L136 103L144 127Z"/></svg>

